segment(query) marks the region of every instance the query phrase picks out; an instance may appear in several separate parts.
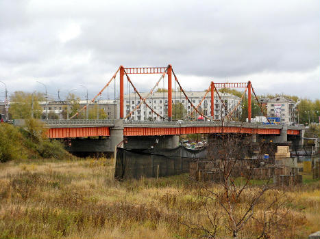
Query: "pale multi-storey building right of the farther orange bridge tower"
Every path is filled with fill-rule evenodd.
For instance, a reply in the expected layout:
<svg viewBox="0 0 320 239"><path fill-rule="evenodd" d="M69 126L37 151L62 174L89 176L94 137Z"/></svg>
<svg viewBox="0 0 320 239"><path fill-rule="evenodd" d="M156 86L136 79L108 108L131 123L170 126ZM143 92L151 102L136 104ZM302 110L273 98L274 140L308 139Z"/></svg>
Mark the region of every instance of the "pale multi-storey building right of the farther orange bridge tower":
<svg viewBox="0 0 320 239"><path fill-rule="evenodd" d="M269 99L267 102L268 117L280 117L284 124L295 124L297 122L297 102L282 96Z"/></svg>

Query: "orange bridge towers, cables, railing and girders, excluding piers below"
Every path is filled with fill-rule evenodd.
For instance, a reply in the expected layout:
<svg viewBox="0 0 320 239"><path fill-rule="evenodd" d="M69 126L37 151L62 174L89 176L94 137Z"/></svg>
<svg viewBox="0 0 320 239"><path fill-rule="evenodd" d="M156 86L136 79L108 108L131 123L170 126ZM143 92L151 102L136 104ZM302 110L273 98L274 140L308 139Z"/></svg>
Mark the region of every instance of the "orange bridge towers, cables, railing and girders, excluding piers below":
<svg viewBox="0 0 320 239"><path fill-rule="evenodd" d="M117 78L119 74L119 78ZM130 79L131 74L160 74L160 79L156 81L156 84L148 92L147 96L143 98L135 87L134 83ZM167 77L166 77L167 76ZM119 79L119 89L116 89L116 81ZM127 83L127 92L133 90L135 94L140 99L140 103L136 104L134 109L130 113L125 115L124 111L124 92L125 92L125 79ZM160 115L155 109L153 109L148 103L148 98L159 89L160 81L165 81L167 79L167 100L168 100L168 111L166 116ZM114 83L114 99L116 99L115 91L119 92L119 115L118 119L77 119L79 115L86 111L89 104L95 102L97 97L101 96L102 92L106 89L109 90L111 83ZM206 121L173 121L172 120L172 88L173 82L177 84L180 89L180 93L183 94L184 99L188 101L193 109L193 112L197 115L202 115ZM164 82L162 82L164 83ZM112 87L110 87L112 89ZM234 106L233 109L227 109L225 107L223 100L221 99L221 88L243 88L243 94L241 100L238 104ZM221 119L214 119L214 92L216 92L221 105L225 109L225 115L221 115ZM199 110L201 102L210 94L211 96L211 115L204 115ZM247 94L247 117L249 119L248 123L238 122L236 119L236 109L238 109L241 101L245 100ZM79 137L112 137L114 135L112 130L117 130L116 134L123 137L136 137L136 136L158 136L158 135L184 135L184 134L217 134L221 132L225 133L241 133L249 135L281 135L282 131L285 129L286 135L292 135L293 137L303 137L303 128L297 126L283 126L283 125L271 125L271 124L254 124L250 122L251 119L251 100L256 100L256 104L260 107L262 115L267 117L264 112L265 109L258 102L256 93L254 92L254 87L251 82L247 83L214 83L211 81L208 84L208 89L204 92L204 97L198 105L194 105L193 102L188 98L186 91L182 87L182 84L177 79L173 67L168 65L167 67L156 67L156 68L125 68L120 66L114 75L111 77L110 81L99 91L99 93L92 99L86 106L80 109L71 119L66 120L45 120L49 130L47 131L47 136L49 138L79 138ZM134 113L137 109L140 109L142 105L148 107L154 114L158 116L161 121L132 121L130 120L130 115ZM193 113L192 112L192 113ZM191 114L192 114L191 113ZM120 123L119 123L120 122ZM120 124L120 126L119 126ZM121 137L117 138L121 139ZM286 138L285 138L286 139ZM119 143L119 142L118 142Z"/></svg>

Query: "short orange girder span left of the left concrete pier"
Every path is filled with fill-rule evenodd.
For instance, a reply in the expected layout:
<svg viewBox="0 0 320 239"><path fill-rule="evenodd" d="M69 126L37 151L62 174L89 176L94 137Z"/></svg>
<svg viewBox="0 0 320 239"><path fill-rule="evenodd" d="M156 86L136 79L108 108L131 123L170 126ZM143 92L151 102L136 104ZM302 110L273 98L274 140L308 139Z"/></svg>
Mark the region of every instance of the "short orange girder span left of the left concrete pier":
<svg viewBox="0 0 320 239"><path fill-rule="evenodd" d="M49 138L77 138L90 136L110 136L109 127L82 127L82 128L49 128L46 132Z"/></svg>

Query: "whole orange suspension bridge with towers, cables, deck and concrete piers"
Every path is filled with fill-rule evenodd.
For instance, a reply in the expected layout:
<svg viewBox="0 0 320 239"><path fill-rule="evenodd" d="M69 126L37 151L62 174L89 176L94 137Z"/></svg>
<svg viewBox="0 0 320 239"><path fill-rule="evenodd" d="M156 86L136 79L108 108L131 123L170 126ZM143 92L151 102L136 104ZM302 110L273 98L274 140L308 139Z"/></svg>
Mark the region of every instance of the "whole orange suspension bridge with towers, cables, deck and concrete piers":
<svg viewBox="0 0 320 239"><path fill-rule="evenodd" d="M119 73L119 87L116 87L116 75ZM129 74L160 74L160 79L156 81L156 84L152 87L150 92L143 98L135 87L134 83L130 79ZM167 88L162 89L167 94L167 115L156 111L148 101L154 92L158 92L160 82L164 85L164 78L167 76ZM188 112L180 120L173 121L173 83L174 79L174 92L176 89L179 90L180 95L188 102L188 106L192 111ZM125 80L127 79L127 89L125 89ZM111 83L114 86L111 86ZM176 88L177 84L177 88ZM221 98L221 92L218 89L221 88L243 88L243 94L240 100L232 107L226 104ZM95 100L101 96L102 92L112 91L114 94L114 100L116 100L116 92L119 92L119 113L116 119L80 119L84 115L84 111L88 109L88 105L95 102ZM134 100L134 107L129 108L131 111L125 111L124 107L124 92L125 90L129 93L134 92L135 96L138 97L139 102ZM253 94L251 94L251 92ZM221 118L217 119L214 117L214 93L216 94L217 100L221 102ZM201 104L204 102L206 97L210 94L210 115L201 111ZM99 91L99 93L88 102L82 109L79 109L77 113L72 115L70 119L47 119L42 120L47 126L47 136L51 139L75 139L77 142L77 150L88 150L88 148L98 147L100 151L114 151L114 147L123 143L123 147L128 148L143 148L154 146L155 143L158 147L177 147L179 135L186 134L221 134L221 133L234 133L242 135L251 135L253 141L272 141L272 142L287 142L296 141L301 144L304 137L304 128L297 126L288 125L273 125L273 124L254 124L251 123L251 100L256 100L260 108L260 113L267 117L265 109L262 107L254 87L251 81L247 83L214 83L211 81L208 84L208 89L204 92L204 96L201 98L199 104L193 104L192 100L188 98L184 91L182 84L177 79L173 67L168 65L167 67L156 67L156 68L124 68L120 66L114 73L110 81ZM129 100L130 101L130 100ZM236 111L241 108L241 102L247 105L247 118L248 123L239 122L237 119ZM132 120L131 116L138 109L141 109L142 105L151 111L152 114L157 115L160 120ZM207 104L208 109L209 102ZM164 109L163 109L164 110ZM217 111L217 109L216 109ZM222 113L222 111L224 111ZM208 109L209 112L209 109ZM126 115L125 115L126 114ZM87 115L87 113L86 113ZM201 115L206 121L195 121L195 115ZM269 119L267 118L269 121ZM19 120L16 120L16 124ZM98 137L90 139L90 137ZM86 140L84 140L86 139ZM79 143L80 142L80 143ZM98 145L98 146L97 146Z"/></svg>

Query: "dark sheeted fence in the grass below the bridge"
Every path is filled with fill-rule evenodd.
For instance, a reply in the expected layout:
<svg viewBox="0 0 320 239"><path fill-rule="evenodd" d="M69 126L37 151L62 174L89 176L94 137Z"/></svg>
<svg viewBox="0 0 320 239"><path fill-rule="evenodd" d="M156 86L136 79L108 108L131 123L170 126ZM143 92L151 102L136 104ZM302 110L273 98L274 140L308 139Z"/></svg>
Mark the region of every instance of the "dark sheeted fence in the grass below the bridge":
<svg viewBox="0 0 320 239"><path fill-rule="evenodd" d="M116 149L116 170L114 177L156 178L187 173L189 163L205 160L207 150L189 150L180 146L175 149L127 150Z"/></svg>

